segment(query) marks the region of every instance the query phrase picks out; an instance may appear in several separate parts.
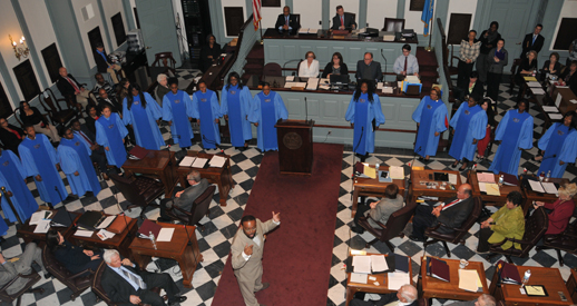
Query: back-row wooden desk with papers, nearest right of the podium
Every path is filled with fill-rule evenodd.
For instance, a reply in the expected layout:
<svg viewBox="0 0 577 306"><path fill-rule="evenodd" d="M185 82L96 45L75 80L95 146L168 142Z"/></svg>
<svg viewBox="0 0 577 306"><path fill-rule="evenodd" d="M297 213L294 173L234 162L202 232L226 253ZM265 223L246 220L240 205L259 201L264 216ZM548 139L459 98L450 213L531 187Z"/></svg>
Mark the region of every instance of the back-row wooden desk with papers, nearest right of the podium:
<svg viewBox="0 0 577 306"><path fill-rule="evenodd" d="M368 164L366 164L368 165ZM365 167L374 169L374 165L368 165ZM353 207L351 216L354 217L356 214L356 208L359 207L359 197L378 197L382 198L384 196L384 189L387 186L391 184L395 184L399 187L399 195L404 195L404 169L403 167L394 167L394 166L379 166L380 171L389 171L389 176L392 181L383 182L379 181L376 175L379 172L373 171L375 177L354 177L353 182Z"/></svg>

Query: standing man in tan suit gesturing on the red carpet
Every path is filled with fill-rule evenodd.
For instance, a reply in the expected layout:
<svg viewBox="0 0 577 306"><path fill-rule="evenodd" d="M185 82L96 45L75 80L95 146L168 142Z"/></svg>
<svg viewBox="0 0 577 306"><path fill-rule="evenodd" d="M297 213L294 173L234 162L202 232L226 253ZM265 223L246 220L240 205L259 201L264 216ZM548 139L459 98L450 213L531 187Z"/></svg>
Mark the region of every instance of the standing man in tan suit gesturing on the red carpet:
<svg viewBox="0 0 577 306"><path fill-rule="evenodd" d="M241 287L246 306L263 306L258 304L254 293L264 290L268 283L263 278L264 235L281 224L281 213L273 211L273 218L266 223L247 215L241 219L241 228L233 239L232 264L234 275Z"/></svg>

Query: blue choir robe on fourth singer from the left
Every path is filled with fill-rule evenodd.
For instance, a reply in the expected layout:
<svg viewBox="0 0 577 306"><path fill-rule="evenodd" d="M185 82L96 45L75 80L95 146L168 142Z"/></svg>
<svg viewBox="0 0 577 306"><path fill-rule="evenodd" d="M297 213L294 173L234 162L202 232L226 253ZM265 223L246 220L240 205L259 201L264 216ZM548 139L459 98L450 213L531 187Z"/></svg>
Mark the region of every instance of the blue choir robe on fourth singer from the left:
<svg viewBox="0 0 577 306"><path fill-rule="evenodd" d="M128 135L128 130L120 120L118 113L110 113L106 118L104 115L96 120L96 142L105 148L108 165L123 167L126 161L126 148L123 139ZM109 150L106 150L108 147Z"/></svg>

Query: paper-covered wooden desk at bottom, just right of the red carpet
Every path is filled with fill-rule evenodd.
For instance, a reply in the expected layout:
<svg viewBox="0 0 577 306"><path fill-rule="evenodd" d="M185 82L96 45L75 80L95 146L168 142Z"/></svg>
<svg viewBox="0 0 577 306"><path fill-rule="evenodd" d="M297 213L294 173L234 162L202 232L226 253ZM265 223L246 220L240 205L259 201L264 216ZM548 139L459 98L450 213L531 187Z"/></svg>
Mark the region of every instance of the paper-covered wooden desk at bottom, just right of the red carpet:
<svg viewBox="0 0 577 306"><path fill-rule="evenodd" d="M364 253L364 251L361 251ZM359 256L359 257L358 257ZM352 255L353 267L360 266L360 272L352 272L346 274L346 304L354 297L358 292L372 294L390 294L395 293L404 284L414 285L412 282L411 258L407 256L397 256L397 258L405 258L408 265L405 266L408 273L395 270L379 274L370 274L371 270L381 270L383 265L387 267L387 261L383 258L388 257L385 254L359 254ZM355 260L355 257L366 260ZM369 259L368 259L369 258ZM384 263L384 264L383 264ZM403 265L404 266L404 265ZM363 272L363 273L361 273Z"/></svg>

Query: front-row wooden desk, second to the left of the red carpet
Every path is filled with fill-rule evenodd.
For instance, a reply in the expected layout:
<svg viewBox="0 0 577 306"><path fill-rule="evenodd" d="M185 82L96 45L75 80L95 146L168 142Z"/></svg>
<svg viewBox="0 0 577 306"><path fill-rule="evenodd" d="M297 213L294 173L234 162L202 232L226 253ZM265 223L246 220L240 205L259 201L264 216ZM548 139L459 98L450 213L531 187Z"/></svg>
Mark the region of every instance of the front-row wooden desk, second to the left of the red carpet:
<svg viewBox="0 0 577 306"><path fill-rule="evenodd" d="M110 215L106 215L110 216ZM124 230L121 234L116 234L113 238L102 240L98 238L95 230L92 236L90 237L79 237L75 236L75 231L70 231L65 238L72 243L76 246L81 247L92 247L92 248L114 248L120 253L123 257L129 258L133 260L133 253L130 251L130 243L136 237L136 230L138 229L136 225L136 219L130 220L128 223L128 230Z"/></svg>

